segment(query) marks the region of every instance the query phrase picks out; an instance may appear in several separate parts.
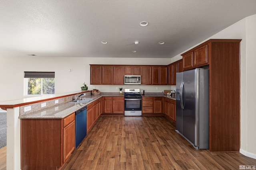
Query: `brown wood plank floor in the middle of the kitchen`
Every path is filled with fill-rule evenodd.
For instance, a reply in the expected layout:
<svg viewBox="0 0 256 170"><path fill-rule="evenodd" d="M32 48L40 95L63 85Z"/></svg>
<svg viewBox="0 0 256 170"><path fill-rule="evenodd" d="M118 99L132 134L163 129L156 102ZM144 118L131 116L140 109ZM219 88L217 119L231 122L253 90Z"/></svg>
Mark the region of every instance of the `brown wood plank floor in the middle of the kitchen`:
<svg viewBox="0 0 256 170"><path fill-rule="evenodd" d="M196 150L164 116L100 116L62 170L239 170L256 159Z"/></svg>

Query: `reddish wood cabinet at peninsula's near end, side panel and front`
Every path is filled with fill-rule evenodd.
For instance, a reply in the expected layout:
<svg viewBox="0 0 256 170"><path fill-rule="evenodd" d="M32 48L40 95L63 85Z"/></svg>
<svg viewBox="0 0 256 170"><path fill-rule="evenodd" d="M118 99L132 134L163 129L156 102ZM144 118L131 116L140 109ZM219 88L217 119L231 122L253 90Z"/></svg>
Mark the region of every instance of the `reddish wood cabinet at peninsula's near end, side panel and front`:
<svg viewBox="0 0 256 170"><path fill-rule="evenodd" d="M75 113L64 119L21 119L21 169L56 170L75 149Z"/></svg>

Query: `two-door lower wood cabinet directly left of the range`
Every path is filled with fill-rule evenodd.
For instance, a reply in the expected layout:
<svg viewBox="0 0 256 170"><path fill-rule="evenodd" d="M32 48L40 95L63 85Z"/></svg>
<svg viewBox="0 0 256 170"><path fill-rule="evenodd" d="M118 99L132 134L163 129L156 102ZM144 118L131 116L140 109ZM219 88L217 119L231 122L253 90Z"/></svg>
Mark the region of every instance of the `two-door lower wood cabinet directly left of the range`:
<svg viewBox="0 0 256 170"><path fill-rule="evenodd" d="M124 113L124 97L103 97L104 106L103 113Z"/></svg>

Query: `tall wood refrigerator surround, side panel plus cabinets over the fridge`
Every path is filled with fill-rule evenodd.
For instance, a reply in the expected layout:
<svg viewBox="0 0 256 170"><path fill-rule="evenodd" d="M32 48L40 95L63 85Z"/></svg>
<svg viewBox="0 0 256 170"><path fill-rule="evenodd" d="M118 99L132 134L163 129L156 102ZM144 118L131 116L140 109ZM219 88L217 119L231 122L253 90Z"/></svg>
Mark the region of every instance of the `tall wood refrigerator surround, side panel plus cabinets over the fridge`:
<svg viewBox="0 0 256 170"><path fill-rule="evenodd" d="M184 70L209 65L211 152L240 150L240 41L210 39L182 54Z"/></svg>

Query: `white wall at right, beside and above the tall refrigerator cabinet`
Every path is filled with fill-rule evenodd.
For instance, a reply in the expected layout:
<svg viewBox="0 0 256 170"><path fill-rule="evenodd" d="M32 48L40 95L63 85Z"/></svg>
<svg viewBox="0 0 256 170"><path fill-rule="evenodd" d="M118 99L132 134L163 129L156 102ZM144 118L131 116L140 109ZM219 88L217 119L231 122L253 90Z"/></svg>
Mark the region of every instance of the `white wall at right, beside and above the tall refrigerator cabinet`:
<svg viewBox="0 0 256 170"><path fill-rule="evenodd" d="M253 15L234 23L208 39L242 39L240 43L240 152L256 159L256 105L254 104L256 102L255 30L256 15ZM195 44L190 49L202 42ZM180 54L173 57L172 62L181 59Z"/></svg>

